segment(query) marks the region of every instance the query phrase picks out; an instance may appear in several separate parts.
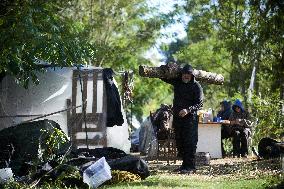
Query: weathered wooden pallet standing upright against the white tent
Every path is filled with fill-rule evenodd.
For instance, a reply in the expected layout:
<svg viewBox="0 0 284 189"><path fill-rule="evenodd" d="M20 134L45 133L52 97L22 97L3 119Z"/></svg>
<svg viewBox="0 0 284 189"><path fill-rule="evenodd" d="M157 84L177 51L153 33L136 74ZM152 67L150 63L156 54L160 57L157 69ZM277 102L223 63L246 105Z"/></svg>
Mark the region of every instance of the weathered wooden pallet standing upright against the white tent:
<svg viewBox="0 0 284 189"><path fill-rule="evenodd" d="M80 82L81 80L81 82ZM85 103L80 110L72 109L67 112L67 125L68 135L71 138L73 148L95 148L106 147L106 95L103 88L103 106L102 111L97 111L97 84L98 81L102 82L102 69L86 69L86 70L74 70L72 78L72 99L67 99L67 107L76 107L82 104L81 95L83 95L83 102L87 99L87 94L92 92L92 102ZM82 94L81 94L81 84ZM90 85L92 87L90 87ZM89 87L88 87L89 86ZM79 93L79 94L78 94ZM86 105L92 106L91 112L87 112ZM90 108L88 108L90 109ZM85 128L85 121L87 127ZM87 136L86 136L87 132ZM87 138L87 139L86 139Z"/></svg>

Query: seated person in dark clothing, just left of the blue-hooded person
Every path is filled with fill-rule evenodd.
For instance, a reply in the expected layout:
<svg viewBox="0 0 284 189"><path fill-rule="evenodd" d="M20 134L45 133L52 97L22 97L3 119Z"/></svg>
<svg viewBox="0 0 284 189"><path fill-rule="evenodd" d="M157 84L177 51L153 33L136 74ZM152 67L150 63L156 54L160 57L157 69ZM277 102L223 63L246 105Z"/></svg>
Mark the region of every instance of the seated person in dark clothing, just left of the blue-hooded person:
<svg viewBox="0 0 284 189"><path fill-rule="evenodd" d="M224 100L220 102L220 111L217 114L217 117L220 117L222 120L229 120L230 115L232 113L231 103ZM232 137L232 128L229 125L222 124L221 126L221 148L222 148L222 156L225 156L225 149L223 139Z"/></svg>

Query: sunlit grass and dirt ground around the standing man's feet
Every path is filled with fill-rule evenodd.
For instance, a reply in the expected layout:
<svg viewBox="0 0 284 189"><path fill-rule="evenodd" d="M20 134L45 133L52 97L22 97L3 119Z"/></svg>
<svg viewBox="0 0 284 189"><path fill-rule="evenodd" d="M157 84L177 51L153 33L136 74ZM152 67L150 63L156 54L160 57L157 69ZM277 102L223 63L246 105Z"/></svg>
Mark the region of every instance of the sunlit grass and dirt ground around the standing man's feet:
<svg viewBox="0 0 284 189"><path fill-rule="evenodd" d="M103 186L105 189L170 189L170 188L284 188L280 160L253 158L225 158L211 160L209 166L200 166L195 174L173 174L181 162L167 165L165 162L149 162L151 176L141 182ZM282 172L281 172L282 171Z"/></svg>

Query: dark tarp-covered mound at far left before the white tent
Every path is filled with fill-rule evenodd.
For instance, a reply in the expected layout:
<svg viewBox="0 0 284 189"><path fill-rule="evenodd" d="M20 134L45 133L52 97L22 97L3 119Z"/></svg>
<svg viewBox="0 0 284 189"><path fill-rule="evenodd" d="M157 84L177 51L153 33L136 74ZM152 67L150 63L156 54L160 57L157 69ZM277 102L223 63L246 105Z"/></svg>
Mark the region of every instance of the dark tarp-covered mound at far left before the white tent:
<svg viewBox="0 0 284 189"><path fill-rule="evenodd" d="M52 120L40 120L22 123L0 131L0 166L12 168L15 175L26 174L27 162L39 158L40 140L44 141L43 130L52 132L55 128L60 129L58 123ZM67 150L66 144L62 153Z"/></svg>

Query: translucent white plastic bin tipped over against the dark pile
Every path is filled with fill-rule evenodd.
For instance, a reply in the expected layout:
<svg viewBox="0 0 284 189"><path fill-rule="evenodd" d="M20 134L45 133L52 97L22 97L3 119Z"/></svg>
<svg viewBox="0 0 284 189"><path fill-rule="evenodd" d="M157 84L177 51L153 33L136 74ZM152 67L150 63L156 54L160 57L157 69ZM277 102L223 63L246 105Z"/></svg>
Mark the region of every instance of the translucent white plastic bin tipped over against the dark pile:
<svg viewBox="0 0 284 189"><path fill-rule="evenodd" d="M83 172L83 182L92 188L97 188L105 181L111 179L110 166L102 157Z"/></svg>

